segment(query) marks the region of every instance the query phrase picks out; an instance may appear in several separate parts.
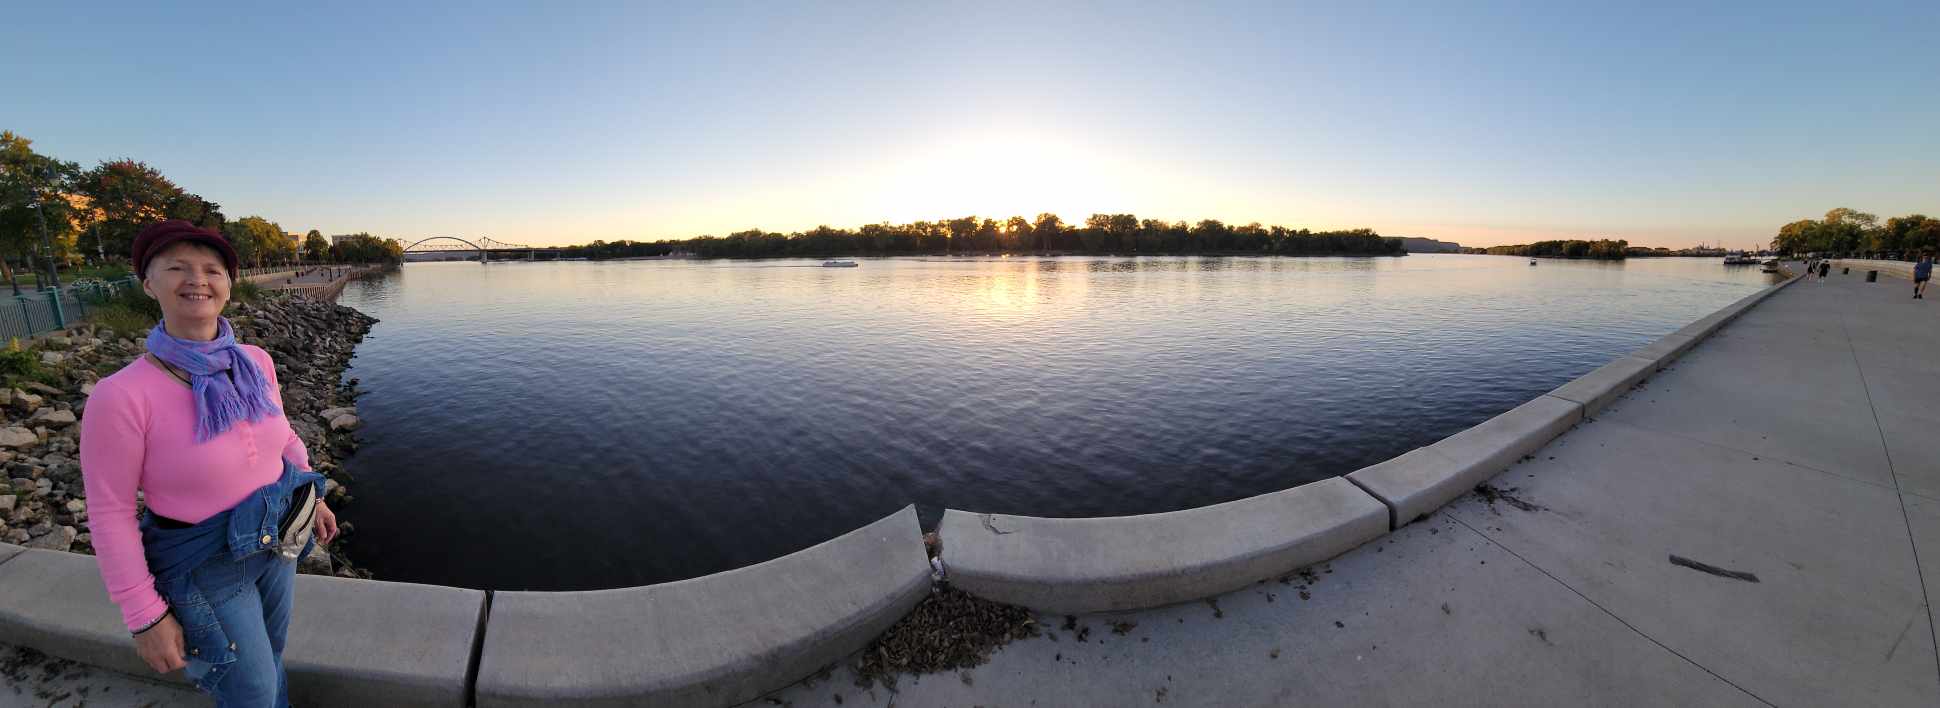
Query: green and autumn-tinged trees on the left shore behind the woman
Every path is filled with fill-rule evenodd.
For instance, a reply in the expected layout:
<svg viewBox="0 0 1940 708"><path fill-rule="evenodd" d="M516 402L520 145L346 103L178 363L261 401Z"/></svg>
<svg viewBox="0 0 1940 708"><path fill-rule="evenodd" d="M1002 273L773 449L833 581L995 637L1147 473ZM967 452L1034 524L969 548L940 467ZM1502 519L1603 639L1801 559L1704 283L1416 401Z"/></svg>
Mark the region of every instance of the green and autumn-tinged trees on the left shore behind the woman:
<svg viewBox="0 0 1940 708"><path fill-rule="evenodd" d="M35 213L39 211L39 213ZM41 227L47 241L41 244ZM244 268L310 262L402 260L402 248L355 244L349 250L310 231L301 242L260 215L229 219L221 206L175 184L159 169L134 159L101 161L91 169L41 155L33 140L0 132L0 272L12 281L21 264L124 264L136 233L159 219L186 219L219 231ZM378 239L382 241L382 239ZM372 258L374 260L367 260Z"/></svg>

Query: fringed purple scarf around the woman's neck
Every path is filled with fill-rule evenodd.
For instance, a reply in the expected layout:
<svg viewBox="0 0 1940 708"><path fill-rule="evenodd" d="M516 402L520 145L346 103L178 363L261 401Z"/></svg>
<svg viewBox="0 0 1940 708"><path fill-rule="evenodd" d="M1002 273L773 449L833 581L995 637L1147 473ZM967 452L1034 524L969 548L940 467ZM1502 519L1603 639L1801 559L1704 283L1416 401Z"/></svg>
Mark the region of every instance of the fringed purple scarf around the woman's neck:
<svg viewBox="0 0 1940 708"><path fill-rule="evenodd" d="M147 332L147 353L188 372L196 398L196 442L229 433L237 421L283 413L270 400L270 380L237 345L229 318L215 320L215 339L210 341L177 339L155 324Z"/></svg>

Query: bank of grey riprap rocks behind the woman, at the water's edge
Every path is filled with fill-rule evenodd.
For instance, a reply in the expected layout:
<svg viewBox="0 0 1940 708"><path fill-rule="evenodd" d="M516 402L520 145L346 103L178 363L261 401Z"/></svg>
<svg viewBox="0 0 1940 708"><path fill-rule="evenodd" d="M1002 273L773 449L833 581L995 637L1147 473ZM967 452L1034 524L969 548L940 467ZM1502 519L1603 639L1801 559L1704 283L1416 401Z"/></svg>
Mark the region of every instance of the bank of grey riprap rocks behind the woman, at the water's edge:
<svg viewBox="0 0 1940 708"><path fill-rule="evenodd" d="M340 384L351 353L376 318L349 306L264 297L229 310L237 339L270 351L283 388L283 413L310 450L310 467L326 475L326 500L351 502L341 458L357 448L357 380ZM147 332L78 324L0 351L0 541L31 549L93 555L87 491L81 485L80 417L101 376L142 357ZM343 537L303 559L301 572L369 578L343 557Z"/></svg>

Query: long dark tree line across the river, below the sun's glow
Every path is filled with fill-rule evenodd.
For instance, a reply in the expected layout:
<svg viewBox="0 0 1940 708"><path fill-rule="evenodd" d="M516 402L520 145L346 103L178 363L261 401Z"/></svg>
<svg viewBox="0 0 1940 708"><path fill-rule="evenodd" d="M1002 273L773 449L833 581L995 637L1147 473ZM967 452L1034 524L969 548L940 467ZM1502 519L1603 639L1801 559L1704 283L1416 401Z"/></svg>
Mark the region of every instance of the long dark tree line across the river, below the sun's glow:
<svg viewBox="0 0 1940 708"><path fill-rule="evenodd" d="M594 241L565 248L568 256L629 258L675 252L698 258L788 256L912 256L912 254L1259 254L1259 256L1403 256L1399 239L1372 229L1308 231L1216 219L1139 219L1131 213L1092 213L1067 225L1055 213L1036 219L960 217L916 223L869 223L857 229L815 227L797 233L737 231L685 241Z"/></svg>

